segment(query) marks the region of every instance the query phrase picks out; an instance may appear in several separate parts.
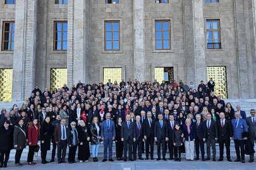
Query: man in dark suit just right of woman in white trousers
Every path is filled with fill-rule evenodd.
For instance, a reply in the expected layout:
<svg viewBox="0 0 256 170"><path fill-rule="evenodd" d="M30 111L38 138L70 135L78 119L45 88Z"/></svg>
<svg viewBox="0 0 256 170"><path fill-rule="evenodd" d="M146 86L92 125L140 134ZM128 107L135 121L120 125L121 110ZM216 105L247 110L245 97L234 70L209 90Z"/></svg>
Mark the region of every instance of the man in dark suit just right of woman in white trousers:
<svg viewBox="0 0 256 170"><path fill-rule="evenodd" d="M201 150L201 156L202 161L205 161L204 159L204 142L206 138L206 126L205 123L201 121L201 116L199 114L195 115L195 119L197 120L194 122L195 127L195 154L197 154L197 157L195 158L195 161L199 160L199 144L200 144L200 150Z"/></svg>

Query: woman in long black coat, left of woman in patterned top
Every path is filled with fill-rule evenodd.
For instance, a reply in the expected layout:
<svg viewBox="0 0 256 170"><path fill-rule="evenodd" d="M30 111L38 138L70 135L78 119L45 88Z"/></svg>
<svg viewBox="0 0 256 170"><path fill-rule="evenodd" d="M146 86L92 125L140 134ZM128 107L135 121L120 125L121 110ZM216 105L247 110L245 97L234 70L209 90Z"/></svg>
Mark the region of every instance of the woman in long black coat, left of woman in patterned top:
<svg viewBox="0 0 256 170"><path fill-rule="evenodd" d="M89 141L90 141L90 129L87 128L85 122L80 120L80 124L77 127L78 140L78 160L80 162L88 162L90 157Z"/></svg>

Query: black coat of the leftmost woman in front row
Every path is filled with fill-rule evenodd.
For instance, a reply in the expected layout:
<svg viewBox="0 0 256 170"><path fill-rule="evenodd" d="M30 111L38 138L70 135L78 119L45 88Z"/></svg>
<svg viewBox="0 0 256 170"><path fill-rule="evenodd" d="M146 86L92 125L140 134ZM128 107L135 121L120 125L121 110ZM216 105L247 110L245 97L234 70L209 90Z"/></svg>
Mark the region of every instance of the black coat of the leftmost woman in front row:
<svg viewBox="0 0 256 170"><path fill-rule="evenodd" d="M13 149L13 131L14 128L10 126L8 130L4 127L0 128L0 151Z"/></svg>

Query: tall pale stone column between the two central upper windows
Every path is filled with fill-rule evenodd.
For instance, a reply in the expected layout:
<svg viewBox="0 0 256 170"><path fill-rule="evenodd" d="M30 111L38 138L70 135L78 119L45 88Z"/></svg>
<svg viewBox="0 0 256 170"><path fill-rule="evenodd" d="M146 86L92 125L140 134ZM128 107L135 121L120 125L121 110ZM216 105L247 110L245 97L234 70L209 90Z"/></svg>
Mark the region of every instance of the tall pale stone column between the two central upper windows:
<svg viewBox="0 0 256 170"><path fill-rule="evenodd" d="M133 49L133 78L138 81L145 81L144 19L144 0L133 1L135 37Z"/></svg>

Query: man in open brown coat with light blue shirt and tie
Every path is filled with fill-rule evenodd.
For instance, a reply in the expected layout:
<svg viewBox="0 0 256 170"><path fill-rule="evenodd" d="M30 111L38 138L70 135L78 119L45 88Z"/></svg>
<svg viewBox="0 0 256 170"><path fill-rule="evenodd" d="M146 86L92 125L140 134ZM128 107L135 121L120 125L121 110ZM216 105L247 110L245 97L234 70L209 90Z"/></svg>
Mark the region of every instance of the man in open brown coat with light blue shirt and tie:
<svg viewBox="0 0 256 170"><path fill-rule="evenodd" d="M58 164L61 162L66 163L66 147L67 147L67 132L68 132L68 125L66 125L66 119L61 120L61 124L55 128L54 131L54 140L58 145ZM62 150L62 154L61 154Z"/></svg>

